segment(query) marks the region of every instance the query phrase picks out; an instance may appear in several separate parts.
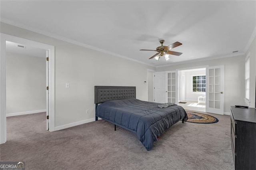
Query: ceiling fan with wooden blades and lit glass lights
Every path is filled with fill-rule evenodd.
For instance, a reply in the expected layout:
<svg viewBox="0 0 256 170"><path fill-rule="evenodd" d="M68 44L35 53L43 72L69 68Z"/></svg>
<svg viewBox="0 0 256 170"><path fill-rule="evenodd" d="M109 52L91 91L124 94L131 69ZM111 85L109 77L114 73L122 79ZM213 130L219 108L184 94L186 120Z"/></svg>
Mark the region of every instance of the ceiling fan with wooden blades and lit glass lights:
<svg viewBox="0 0 256 170"><path fill-rule="evenodd" d="M178 55L178 56L182 55L182 53L179 53L179 52L176 52L176 51L170 51L170 49L178 47L178 46L182 45L182 43L175 42L175 43L172 43L169 46L165 46L165 45L163 45L164 40L160 40L159 42L161 43L161 46L156 47L156 50L140 49L140 51L157 51L158 53L156 53L155 55L153 55L152 57L149 58L149 59L155 58L156 61L159 61L160 57L162 57L163 55L164 55L166 61L168 61L170 59L168 54Z"/></svg>

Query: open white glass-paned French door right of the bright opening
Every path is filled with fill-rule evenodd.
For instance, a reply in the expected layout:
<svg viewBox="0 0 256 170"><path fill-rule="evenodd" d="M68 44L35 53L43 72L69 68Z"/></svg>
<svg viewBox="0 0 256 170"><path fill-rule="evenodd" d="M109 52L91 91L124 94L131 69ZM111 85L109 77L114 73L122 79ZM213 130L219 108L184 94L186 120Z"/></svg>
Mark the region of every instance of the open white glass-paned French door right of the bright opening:
<svg viewBox="0 0 256 170"><path fill-rule="evenodd" d="M224 115L224 66L206 68L206 112Z"/></svg>

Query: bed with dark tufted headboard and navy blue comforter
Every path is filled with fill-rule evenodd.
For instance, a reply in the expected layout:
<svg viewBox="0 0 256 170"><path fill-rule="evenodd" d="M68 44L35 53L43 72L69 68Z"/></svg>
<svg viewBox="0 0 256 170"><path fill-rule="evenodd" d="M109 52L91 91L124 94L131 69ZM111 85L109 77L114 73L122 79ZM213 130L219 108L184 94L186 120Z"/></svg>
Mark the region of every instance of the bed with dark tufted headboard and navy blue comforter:
<svg viewBox="0 0 256 170"><path fill-rule="evenodd" d="M188 120L181 106L159 108L161 103L136 99L136 87L95 86L94 94L96 121L99 117L114 124L115 130L117 125L136 133L146 150L166 129Z"/></svg>

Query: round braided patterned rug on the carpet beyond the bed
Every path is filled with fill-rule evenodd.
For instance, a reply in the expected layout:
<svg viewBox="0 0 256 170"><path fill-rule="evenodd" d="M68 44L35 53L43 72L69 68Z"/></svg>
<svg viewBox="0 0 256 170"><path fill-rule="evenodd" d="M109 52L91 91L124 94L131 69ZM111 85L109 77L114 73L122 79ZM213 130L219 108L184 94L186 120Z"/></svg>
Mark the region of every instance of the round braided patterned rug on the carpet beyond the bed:
<svg viewBox="0 0 256 170"><path fill-rule="evenodd" d="M219 120L216 117L203 113L186 111L188 114L187 122L191 123L217 123Z"/></svg>

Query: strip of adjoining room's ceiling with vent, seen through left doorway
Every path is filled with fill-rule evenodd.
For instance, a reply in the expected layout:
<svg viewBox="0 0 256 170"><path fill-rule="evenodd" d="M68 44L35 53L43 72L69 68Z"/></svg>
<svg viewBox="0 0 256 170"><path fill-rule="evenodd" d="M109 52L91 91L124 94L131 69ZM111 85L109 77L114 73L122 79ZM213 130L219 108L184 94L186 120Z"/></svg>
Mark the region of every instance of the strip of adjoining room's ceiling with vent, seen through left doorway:
<svg viewBox="0 0 256 170"><path fill-rule="evenodd" d="M23 46L23 47L19 47ZM46 50L20 43L6 41L6 52L17 53L22 55L30 55L34 57L46 57Z"/></svg>

